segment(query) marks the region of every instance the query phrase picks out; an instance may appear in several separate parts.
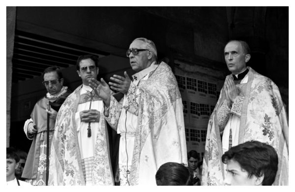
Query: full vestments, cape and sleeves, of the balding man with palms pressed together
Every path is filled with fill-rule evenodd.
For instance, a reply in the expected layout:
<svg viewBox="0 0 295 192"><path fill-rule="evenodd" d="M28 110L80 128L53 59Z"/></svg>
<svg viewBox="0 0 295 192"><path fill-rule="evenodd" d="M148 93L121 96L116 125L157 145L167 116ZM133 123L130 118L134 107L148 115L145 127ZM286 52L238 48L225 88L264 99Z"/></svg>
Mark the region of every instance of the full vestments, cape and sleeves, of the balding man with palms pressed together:
<svg viewBox="0 0 295 192"><path fill-rule="evenodd" d="M276 150L279 164L273 185L288 185L289 126L279 89L269 78L247 68L242 80L234 80L238 96L232 108L222 88L209 118L202 185L223 185L226 165L221 156L229 147L249 140L265 142Z"/></svg>

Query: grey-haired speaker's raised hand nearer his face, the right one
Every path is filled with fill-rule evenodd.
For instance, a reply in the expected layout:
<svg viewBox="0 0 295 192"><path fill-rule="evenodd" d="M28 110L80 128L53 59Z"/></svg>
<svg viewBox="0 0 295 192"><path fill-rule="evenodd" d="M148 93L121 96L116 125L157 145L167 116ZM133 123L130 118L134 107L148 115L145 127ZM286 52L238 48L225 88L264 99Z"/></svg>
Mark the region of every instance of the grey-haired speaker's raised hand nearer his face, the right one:
<svg viewBox="0 0 295 192"><path fill-rule="evenodd" d="M114 75L113 77L111 77L111 80L114 81L109 82L109 84L111 85L111 89L120 91L123 94L127 94L130 87L131 79L129 78L126 71L124 71L124 76L125 78L119 75Z"/></svg>

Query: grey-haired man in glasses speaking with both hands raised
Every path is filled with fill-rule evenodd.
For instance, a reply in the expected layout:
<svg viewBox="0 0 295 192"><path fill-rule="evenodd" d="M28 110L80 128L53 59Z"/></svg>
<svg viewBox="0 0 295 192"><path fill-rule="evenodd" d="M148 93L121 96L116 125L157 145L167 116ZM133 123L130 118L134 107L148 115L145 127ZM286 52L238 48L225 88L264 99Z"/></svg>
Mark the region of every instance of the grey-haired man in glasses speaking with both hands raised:
<svg viewBox="0 0 295 192"><path fill-rule="evenodd" d="M156 185L160 165L187 165L182 101L171 68L157 63L155 44L137 38L126 53L137 73L114 75L109 85L91 79L90 86L105 103L104 116L121 135L119 142L120 185ZM110 88L124 94L118 103Z"/></svg>

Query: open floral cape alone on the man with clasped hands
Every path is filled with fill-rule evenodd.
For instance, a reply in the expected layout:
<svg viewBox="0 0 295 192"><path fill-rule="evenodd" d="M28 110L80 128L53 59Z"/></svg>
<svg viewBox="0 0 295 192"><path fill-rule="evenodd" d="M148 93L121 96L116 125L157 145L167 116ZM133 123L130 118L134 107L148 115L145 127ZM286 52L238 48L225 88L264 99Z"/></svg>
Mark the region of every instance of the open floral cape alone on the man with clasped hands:
<svg viewBox="0 0 295 192"><path fill-rule="evenodd" d="M56 121L51 147L49 172L50 185L85 185L85 182L93 185L113 185L109 155L106 143L106 130L103 115L100 116L101 130L98 131L95 140L94 160L88 161L85 166L85 176L81 163L78 146L77 128L75 125L75 113L80 99L81 86L68 96L61 106ZM91 170L90 172L86 170ZM86 181L85 181L86 178Z"/></svg>

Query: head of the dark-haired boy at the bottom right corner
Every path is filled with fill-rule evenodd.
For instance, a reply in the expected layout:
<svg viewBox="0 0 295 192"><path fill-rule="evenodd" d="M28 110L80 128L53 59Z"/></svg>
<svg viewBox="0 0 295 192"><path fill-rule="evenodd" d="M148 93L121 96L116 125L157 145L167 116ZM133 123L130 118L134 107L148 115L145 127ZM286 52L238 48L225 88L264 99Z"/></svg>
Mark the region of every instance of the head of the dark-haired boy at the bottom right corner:
<svg viewBox="0 0 295 192"><path fill-rule="evenodd" d="M247 141L222 155L227 164L225 185L272 185L278 170L275 149L259 141Z"/></svg>

